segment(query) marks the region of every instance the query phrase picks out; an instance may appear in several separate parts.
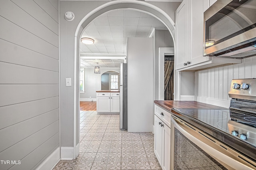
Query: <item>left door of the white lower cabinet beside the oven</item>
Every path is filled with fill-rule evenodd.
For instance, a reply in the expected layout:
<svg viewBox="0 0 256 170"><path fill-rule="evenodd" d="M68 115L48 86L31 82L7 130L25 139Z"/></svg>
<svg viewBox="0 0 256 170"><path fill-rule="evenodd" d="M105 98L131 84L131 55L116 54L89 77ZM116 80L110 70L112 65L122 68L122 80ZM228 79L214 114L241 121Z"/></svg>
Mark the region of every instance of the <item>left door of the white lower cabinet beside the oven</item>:
<svg viewBox="0 0 256 170"><path fill-rule="evenodd" d="M158 162L162 166L162 127L159 125L162 121L156 115L154 118L154 152Z"/></svg>

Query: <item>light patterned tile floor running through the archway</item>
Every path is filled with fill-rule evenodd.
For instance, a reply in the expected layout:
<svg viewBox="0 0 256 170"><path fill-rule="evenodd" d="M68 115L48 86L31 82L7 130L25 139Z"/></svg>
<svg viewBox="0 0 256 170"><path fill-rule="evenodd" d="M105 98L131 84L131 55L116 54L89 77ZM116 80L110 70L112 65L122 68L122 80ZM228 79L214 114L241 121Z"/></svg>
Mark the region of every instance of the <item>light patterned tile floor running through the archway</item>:
<svg viewBox="0 0 256 170"><path fill-rule="evenodd" d="M80 113L80 154L61 160L54 170L161 170L152 132L119 128L119 115Z"/></svg>

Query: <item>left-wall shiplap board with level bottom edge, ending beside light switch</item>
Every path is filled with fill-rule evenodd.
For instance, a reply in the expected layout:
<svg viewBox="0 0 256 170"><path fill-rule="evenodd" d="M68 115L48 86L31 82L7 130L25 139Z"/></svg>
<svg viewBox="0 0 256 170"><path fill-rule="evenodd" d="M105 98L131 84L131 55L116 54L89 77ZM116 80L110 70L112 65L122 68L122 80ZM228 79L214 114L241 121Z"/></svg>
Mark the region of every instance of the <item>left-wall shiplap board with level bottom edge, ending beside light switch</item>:
<svg viewBox="0 0 256 170"><path fill-rule="evenodd" d="M58 84L56 71L0 62L0 80L3 84Z"/></svg>

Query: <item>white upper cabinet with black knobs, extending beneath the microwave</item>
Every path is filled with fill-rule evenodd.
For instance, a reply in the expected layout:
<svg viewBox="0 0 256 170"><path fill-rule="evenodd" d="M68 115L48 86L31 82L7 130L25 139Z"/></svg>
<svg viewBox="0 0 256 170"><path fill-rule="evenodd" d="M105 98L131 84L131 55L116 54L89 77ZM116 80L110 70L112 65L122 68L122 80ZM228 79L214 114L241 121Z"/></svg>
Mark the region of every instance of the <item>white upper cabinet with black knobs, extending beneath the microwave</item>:
<svg viewBox="0 0 256 170"><path fill-rule="evenodd" d="M183 0L177 8L175 19L175 68L177 71L241 63L241 59L203 56L204 8L213 3L208 0Z"/></svg>

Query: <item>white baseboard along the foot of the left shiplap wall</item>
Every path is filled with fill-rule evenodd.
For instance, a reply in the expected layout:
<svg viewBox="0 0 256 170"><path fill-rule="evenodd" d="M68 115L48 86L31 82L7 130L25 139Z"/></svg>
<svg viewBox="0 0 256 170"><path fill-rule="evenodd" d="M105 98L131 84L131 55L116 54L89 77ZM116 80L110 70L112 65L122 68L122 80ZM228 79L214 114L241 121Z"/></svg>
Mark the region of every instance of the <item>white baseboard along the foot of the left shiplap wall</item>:
<svg viewBox="0 0 256 170"><path fill-rule="evenodd" d="M60 147L57 148L36 170L52 170L60 161Z"/></svg>

